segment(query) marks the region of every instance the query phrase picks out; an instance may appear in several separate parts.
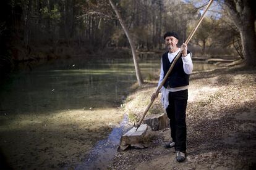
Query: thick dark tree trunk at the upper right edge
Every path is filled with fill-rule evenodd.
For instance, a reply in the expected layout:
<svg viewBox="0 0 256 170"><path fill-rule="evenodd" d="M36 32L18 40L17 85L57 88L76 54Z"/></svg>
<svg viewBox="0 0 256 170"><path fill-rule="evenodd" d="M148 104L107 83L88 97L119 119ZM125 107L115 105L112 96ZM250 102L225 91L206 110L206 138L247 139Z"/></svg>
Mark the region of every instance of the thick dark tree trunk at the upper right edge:
<svg viewBox="0 0 256 170"><path fill-rule="evenodd" d="M245 65L256 67L255 1L224 0L224 4L239 30Z"/></svg>

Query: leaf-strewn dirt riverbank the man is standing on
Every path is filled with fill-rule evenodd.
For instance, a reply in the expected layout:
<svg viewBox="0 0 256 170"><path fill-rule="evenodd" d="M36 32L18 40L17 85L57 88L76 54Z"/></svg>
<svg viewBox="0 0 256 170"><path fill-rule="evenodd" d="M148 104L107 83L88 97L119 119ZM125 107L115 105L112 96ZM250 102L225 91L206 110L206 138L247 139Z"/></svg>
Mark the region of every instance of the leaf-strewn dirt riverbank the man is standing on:
<svg viewBox="0 0 256 170"><path fill-rule="evenodd" d="M169 129L149 132L148 148L118 152L109 169L254 169L256 166L256 70L222 68L190 77L187 105L187 158L177 163L163 148ZM143 113L157 81L127 97L131 118ZM162 113L160 97L151 113Z"/></svg>

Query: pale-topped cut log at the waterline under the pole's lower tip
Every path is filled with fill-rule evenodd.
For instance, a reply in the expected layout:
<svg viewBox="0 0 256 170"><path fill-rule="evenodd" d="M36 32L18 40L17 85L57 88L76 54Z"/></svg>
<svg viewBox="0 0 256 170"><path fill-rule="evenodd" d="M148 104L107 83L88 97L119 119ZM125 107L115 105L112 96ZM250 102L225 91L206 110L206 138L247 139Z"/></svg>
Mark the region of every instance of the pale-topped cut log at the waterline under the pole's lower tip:
<svg viewBox="0 0 256 170"><path fill-rule="evenodd" d="M126 150L126 148L128 148L129 146L137 148L146 147L142 144L142 141L143 137L147 132L147 124L141 124L137 131L136 129L137 127L132 127L130 131L128 131L121 137L121 142L119 146L120 150Z"/></svg>

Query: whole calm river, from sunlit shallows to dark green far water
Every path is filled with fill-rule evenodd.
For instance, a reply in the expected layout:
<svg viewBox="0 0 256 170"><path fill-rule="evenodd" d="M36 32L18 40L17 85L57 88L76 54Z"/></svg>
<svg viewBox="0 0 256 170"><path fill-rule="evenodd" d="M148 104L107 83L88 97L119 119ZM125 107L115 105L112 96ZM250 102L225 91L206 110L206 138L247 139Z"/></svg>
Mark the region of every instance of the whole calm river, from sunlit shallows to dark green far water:
<svg viewBox="0 0 256 170"><path fill-rule="evenodd" d="M139 63L144 79L158 74L160 57ZM194 62L194 71L212 68ZM108 125L122 119L114 110L135 82L132 59L55 60L12 73L0 91L4 155L15 169L63 168L82 160L106 137Z"/></svg>

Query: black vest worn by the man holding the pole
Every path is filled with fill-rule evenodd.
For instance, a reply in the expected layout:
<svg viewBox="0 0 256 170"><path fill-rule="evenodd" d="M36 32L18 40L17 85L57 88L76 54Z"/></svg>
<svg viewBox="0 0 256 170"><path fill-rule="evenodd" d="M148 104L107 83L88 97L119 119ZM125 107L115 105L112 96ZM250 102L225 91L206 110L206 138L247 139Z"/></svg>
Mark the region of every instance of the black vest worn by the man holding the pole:
<svg viewBox="0 0 256 170"><path fill-rule="evenodd" d="M189 54L189 51L187 51L187 54ZM171 63L169 62L168 52L163 54L162 62L163 62L163 71L165 76L169 68L171 67L171 63L173 63L173 61ZM183 61L181 57L179 57L179 59L177 60L176 64L173 67L173 70L169 74L168 79L166 79L163 86L167 88L168 85L169 87L181 87L181 86L189 85L189 75L187 75L184 72Z"/></svg>

